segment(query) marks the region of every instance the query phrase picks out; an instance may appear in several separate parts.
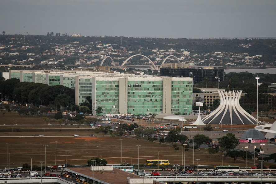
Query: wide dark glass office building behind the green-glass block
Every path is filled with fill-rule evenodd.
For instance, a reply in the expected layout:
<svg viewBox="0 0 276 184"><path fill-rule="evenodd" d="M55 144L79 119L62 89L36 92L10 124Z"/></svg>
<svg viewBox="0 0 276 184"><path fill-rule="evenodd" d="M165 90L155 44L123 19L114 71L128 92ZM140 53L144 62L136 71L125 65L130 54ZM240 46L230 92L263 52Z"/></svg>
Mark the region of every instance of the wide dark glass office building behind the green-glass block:
<svg viewBox="0 0 276 184"><path fill-rule="evenodd" d="M208 77L210 82L215 82L216 76L219 81L224 80L224 69L223 67L201 66L179 67L179 64L174 67L164 65L160 68L160 76L193 77L194 84L203 81L204 77Z"/></svg>

